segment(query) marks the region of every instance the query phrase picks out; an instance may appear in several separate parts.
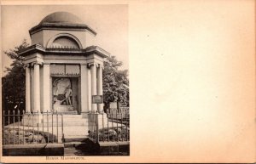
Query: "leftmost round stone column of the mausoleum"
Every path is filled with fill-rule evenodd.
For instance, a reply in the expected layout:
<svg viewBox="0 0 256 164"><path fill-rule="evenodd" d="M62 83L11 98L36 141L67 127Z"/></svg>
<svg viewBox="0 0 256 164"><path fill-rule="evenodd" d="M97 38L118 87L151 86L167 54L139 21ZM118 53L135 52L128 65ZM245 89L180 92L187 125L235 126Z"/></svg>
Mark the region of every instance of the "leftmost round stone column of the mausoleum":
<svg viewBox="0 0 256 164"><path fill-rule="evenodd" d="M26 113L31 112L31 81L30 81L30 68L26 66Z"/></svg>

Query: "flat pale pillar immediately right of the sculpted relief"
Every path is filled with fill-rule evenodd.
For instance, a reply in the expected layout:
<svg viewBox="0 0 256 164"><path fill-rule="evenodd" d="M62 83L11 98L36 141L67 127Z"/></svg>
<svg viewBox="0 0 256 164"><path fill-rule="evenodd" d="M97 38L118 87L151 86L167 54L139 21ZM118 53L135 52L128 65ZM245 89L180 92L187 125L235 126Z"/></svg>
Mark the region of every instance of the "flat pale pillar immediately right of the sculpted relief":
<svg viewBox="0 0 256 164"><path fill-rule="evenodd" d="M88 112L88 98L87 98L87 65L80 66L81 71L81 113Z"/></svg>

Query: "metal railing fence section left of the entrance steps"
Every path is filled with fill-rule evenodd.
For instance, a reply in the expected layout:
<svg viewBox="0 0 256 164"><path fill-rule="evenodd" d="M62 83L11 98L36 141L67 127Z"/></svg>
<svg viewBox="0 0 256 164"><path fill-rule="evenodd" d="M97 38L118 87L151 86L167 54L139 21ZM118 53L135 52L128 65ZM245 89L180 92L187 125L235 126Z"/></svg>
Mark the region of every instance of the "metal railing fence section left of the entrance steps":
<svg viewBox="0 0 256 164"><path fill-rule="evenodd" d="M3 145L52 144L63 138L63 115L58 112L3 111Z"/></svg>

